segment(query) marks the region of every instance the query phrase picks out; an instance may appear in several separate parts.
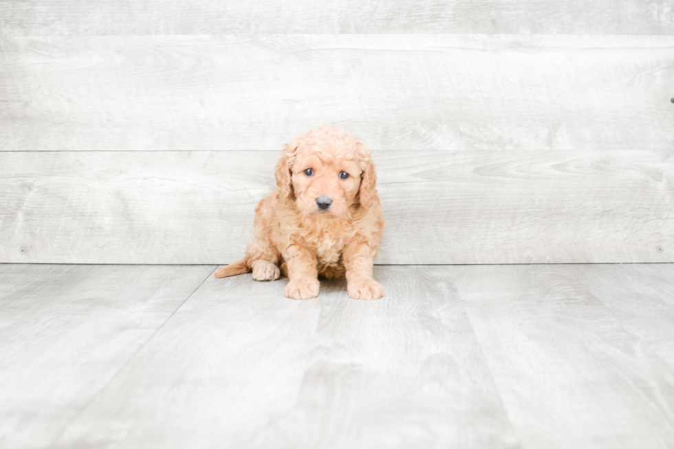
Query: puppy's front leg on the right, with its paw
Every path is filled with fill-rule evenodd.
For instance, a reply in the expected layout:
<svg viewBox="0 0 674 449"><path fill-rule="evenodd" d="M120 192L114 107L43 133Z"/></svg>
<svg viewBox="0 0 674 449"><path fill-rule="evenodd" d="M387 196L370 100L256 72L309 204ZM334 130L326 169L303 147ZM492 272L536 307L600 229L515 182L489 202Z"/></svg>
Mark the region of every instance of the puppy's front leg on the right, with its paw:
<svg viewBox="0 0 674 449"><path fill-rule="evenodd" d="M379 299L384 287L372 278L376 252L367 243L349 243L342 254L347 270L347 292L354 299Z"/></svg>

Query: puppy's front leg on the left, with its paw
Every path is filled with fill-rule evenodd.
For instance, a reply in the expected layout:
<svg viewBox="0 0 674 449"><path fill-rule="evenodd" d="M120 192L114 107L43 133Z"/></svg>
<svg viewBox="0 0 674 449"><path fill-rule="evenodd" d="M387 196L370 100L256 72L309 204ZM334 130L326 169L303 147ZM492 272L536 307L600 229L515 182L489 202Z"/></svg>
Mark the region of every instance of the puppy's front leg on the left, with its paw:
<svg viewBox="0 0 674 449"><path fill-rule="evenodd" d="M290 245L283 253L290 282L285 286L286 298L309 299L318 296L316 255L303 245Z"/></svg>

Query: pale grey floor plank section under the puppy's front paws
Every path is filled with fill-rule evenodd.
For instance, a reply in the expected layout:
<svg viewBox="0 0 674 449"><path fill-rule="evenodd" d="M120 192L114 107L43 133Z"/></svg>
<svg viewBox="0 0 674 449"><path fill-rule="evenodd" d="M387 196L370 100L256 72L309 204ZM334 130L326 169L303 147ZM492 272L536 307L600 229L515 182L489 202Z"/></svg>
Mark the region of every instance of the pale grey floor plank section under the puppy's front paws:
<svg viewBox="0 0 674 449"><path fill-rule="evenodd" d="M371 302L206 281L54 447L517 446L444 269L375 276Z"/></svg>

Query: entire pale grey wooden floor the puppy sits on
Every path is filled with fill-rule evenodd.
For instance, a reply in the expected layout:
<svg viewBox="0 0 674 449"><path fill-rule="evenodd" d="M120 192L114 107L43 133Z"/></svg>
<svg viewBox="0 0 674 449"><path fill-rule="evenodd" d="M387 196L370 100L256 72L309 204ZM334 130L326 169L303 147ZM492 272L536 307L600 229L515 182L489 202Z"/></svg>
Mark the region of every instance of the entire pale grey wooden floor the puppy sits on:
<svg viewBox="0 0 674 449"><path fill-rule="evenodd" d="M0 448L673 448L674 264L0 265Z"/></svg>

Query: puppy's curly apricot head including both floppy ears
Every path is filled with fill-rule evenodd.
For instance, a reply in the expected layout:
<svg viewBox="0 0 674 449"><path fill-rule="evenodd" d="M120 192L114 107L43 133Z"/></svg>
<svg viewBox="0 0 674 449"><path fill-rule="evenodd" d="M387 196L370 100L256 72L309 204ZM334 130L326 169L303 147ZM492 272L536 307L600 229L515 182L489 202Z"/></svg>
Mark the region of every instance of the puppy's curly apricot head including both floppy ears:
<svg viewBox="0 0 674 449"><path fill-rule="evenodd" d="M369 208L377 175L365 145L346 131L318 127L298 135L276 164L279 197L303 215L342 217L349 207Z"/></svg>

